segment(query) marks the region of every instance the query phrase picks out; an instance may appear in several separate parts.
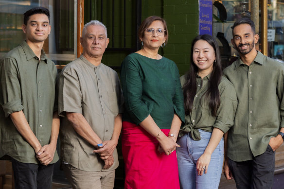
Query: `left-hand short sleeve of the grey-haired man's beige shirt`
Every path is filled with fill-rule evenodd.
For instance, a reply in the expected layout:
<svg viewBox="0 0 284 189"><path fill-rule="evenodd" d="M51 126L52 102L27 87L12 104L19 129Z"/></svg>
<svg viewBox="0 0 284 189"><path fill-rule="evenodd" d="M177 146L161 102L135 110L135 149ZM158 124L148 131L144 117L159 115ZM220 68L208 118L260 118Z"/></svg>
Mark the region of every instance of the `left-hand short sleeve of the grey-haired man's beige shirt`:
<svg viewBox="0 0 284 189"><path fill-rule="evenodd" d="M78 76L74 70L62 70L58 79L58 113L82 113L82 93Z"/></svg>

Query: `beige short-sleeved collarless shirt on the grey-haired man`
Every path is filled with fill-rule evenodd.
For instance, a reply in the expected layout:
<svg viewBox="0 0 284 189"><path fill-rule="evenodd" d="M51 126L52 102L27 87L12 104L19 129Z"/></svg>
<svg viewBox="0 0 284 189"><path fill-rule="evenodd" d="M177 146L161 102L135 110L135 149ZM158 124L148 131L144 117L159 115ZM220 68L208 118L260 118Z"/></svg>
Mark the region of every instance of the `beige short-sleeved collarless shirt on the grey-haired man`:
<svg viewBox="0 0 284 189"><path fill-rule="evenodd" d="M104 161L94 154L94 146L80 137L66 118L66 112L81 113L94 132L110 140L114 119L123 111L123 95L117 73L101 63L92 65L83 55L59 74L58 111L63 116L60 128L61 161L90 172L111 171L118 167L117 150L113 165L104 170Z"/></svg>

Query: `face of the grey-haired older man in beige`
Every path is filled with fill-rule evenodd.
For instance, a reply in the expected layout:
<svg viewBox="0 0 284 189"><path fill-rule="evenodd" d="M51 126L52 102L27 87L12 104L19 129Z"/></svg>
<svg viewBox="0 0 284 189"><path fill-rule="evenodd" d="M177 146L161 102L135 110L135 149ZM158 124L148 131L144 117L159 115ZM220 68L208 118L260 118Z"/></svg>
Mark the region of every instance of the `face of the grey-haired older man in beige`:
<svg viewBox="0 0 284 189"><path fill-rule="evenodd" d="M106 38L106 31L103 26L90 25L86 28L84 36L80 38L83 46L83 55L88 59L102 58L108 45L109 39Z"/></svg>

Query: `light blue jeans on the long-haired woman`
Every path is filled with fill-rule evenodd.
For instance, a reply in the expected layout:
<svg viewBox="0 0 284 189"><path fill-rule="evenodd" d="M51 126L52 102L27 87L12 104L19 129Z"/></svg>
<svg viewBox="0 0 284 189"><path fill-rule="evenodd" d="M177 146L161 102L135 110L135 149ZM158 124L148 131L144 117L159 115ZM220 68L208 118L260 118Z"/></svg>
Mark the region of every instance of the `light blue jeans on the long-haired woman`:
<svg viewBox="0 0 284 189"><path fill-rule="evenodd" d="M199 129L201 140L195 141L190 133L177 139L180 145L177 148L178 175L181 189L218 189L223 159L224 140L223 137L211 155L207 173L202 176L197 174L196 162L204 153L211 134Z"/></svg>

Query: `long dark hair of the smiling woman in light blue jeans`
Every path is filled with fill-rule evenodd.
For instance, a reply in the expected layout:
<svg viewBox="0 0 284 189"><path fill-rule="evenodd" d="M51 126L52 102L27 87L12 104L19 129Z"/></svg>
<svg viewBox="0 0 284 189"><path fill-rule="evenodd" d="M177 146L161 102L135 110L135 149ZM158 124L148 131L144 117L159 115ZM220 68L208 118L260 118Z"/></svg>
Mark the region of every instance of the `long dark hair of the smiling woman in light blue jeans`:
<svg viewBox="0 0 284 189"><path fill-rule="evenodd" d="M198 40L207 41L213 47L215 51L216 61L214 61L213 63L213 70L210 75L209 85L206 91L206 97L210 98L209 107L211 108L212 115L216 116L216 112L220 105L220 92L218 89L218 85L222 78L221 57L220 57L220 51L219 51L219 47L218 47L216 40L211 35L208 35L208 34L198 35L192 41L191 61L190 61L191 69L185 75L186 82L183 85L185 115L189 115L192 110L193 101L194 101L196 90L197 90L196 74L198 72L198 68L194 64L194 61L193 61L193 50L194 50L193 48L194 48L195 43Z"/></svg>

